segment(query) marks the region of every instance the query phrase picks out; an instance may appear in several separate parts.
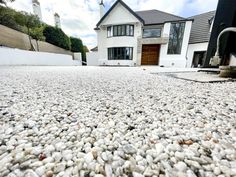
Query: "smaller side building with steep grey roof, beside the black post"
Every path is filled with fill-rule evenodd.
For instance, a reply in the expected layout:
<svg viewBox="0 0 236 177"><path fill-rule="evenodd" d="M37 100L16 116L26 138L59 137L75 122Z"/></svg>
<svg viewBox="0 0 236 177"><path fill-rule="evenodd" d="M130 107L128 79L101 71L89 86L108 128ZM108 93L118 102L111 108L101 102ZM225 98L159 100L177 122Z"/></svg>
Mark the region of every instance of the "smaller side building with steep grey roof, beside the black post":
<svg viewBox="0 0 236 177"><path fill-rule="evenodd" d="M189 39L187 67L203 67L215 13L211 11L190 17L194 22Z"/></svg>

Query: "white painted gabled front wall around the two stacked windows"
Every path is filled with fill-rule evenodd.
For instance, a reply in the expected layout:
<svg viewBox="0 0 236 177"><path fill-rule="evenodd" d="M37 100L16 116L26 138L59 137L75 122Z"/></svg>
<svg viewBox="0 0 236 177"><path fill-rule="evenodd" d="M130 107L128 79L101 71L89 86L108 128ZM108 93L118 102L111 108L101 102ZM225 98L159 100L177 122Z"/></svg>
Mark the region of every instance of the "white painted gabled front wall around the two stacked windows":
<svg viewBox="0 0 236 177"><path fill-rule="evenodd" d="M107 37L107 26L118 24L133 24L134 36L122 37ZM140 21L133 16L120 3L113 9L99 26L98 35L98 52L99 65L128 65L134 66L137 64L138 52L137 39L142 35L142 28ZM110 47L133 47L133 60L108 60L108 48Z"/></svg>

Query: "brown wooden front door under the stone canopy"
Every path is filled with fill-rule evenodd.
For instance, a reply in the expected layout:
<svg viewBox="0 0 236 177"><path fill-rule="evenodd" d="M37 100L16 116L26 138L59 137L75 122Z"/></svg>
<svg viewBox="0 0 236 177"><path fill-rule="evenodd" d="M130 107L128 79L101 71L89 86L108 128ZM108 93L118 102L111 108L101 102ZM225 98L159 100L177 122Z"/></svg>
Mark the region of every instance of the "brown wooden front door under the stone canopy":
<svg viewBox="0 0 236 177"><path fill-rule="evenodd" d="M141 65L159 64L160 45L143 45Z"/></svg>

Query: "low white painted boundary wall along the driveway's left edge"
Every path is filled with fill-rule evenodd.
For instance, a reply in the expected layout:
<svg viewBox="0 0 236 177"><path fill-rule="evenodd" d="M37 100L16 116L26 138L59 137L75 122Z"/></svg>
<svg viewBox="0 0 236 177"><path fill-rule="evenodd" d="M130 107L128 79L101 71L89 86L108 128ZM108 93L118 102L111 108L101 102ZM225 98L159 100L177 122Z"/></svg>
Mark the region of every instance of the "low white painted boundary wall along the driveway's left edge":
<svg viewBox="0 0 236 177"><path fill-rule="evenodd" d="M0 65L80 65L71 55L0 48Z"/></svg>

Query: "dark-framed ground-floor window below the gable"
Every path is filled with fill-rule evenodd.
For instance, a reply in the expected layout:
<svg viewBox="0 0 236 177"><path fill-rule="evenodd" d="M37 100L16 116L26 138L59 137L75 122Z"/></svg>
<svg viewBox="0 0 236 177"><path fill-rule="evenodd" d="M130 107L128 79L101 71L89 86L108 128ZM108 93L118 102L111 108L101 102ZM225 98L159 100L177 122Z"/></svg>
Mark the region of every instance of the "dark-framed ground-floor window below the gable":
<svg viewBox="0 0 236 177"><path fill-rule="evenodd" d="M108 48L108 60L132 60L132 47L114 47Z"/></svg>

